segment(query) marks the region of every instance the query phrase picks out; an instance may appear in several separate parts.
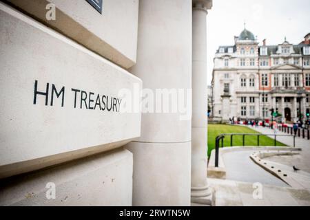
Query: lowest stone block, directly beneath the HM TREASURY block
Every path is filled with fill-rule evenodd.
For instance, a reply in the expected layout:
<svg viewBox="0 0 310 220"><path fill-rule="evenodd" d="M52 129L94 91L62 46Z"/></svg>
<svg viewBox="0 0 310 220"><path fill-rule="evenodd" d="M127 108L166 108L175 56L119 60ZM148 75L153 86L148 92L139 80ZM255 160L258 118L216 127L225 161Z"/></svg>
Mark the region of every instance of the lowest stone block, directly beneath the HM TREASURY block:
<svg viewBox="0 0 310 220"><path fill-rule="evenodd" d="M132 172L132 153L118 148L1 179L0 206L132 206Z"/></svg>

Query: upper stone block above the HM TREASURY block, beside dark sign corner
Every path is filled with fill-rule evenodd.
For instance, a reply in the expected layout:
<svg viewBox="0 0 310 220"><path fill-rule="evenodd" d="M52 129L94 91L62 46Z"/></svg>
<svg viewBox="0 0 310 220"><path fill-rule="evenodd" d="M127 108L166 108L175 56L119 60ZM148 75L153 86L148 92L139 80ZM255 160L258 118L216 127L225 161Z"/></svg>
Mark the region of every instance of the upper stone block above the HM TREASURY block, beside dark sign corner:
<svg viewBox="0 0 310 220"><path fill-rule="evenodd" d="M104 16L96 12L86 1L6 0L6 3L14 5L18 10L68 36L92 52L128 69L136 63L138 3L113 1L104 1L105 10L114 6L115 11L114 14L105 12ZM45 18L45 13L48 12L45 7L48 3L54 3L56 6L55 20ZM123 17L123 20L120 22L118 17ZM108 25L111 23L114 24L113 28ZM116 32L118 34L115 34ZM130 46L124 42L128 42Z"/></svg>

